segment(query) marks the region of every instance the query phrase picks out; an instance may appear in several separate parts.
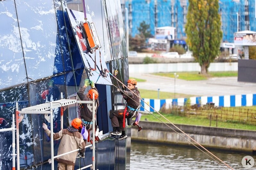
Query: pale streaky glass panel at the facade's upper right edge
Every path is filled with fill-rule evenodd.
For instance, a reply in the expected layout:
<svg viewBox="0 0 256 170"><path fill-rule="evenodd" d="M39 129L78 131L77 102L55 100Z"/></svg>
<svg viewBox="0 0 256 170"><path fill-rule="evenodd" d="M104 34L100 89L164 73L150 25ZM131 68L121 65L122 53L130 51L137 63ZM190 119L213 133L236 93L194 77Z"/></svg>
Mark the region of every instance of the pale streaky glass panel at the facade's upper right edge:
<svg viewBox="0 0 256 170"><path fill-rule="evenodd" d="M126 39L124 33L124 23L121 11L121 4L116 0L106 2L107 23L110 30L110 39L113 49L114 59L127 57ZM116 69L114 67L114 69Z"/></svg>

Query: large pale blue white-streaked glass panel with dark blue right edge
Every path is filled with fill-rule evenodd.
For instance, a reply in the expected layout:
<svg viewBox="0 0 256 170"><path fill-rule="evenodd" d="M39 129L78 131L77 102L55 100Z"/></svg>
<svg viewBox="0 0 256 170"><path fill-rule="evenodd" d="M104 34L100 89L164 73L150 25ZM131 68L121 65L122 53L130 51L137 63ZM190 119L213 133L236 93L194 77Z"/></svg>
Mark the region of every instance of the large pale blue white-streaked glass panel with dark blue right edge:
<svg viewBox="0 0 256 170"><path fill-rule="evenodd" d="M36 80L63 72L53 1L15 3L28 77Z"/></svg>

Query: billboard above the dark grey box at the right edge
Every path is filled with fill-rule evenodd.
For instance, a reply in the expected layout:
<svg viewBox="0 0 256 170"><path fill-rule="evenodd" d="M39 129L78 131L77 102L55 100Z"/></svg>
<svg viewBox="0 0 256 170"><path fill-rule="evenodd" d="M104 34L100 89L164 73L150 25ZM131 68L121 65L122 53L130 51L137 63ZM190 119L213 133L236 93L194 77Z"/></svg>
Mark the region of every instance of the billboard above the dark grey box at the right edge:
<svg viewBox="0 0 256 170"><path fill-rule="evenodd" d="M256 45L256 32L255 33L235 33L235 45L251 46Z"/></svg>

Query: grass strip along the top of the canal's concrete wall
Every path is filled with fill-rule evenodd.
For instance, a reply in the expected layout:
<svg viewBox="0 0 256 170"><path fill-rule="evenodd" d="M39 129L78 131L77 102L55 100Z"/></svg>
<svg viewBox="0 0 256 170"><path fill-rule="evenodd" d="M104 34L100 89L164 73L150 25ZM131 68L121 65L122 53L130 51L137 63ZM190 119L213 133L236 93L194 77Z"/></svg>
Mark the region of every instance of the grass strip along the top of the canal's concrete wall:
<svg viewBox="0 0 256 170"><path fill-rule="evenodd" d="M153 113L153 114L163 122L168 123L168 121L162 118L158 113ZM188 117L174 116L171 114L162 114L162 115L166 117L166 119L168 119L173 124L187 124L187 125L197 125L197 126L207 126L207 127L209 127L210 125L210 120L206 118L188 118ZM141 116L141 121L144 121L145 119L147 119L147 121L160 122L160 120L158 120L157 118L155 118L151 114L144 113ZM218 123L217 125L218 128L256 130L256 126L242 124L242 123L232 123L232 122L222 122L222 121L218 121L217 123ZM216 121L214 120L211 121L211 127L216 127Z"/></svg>

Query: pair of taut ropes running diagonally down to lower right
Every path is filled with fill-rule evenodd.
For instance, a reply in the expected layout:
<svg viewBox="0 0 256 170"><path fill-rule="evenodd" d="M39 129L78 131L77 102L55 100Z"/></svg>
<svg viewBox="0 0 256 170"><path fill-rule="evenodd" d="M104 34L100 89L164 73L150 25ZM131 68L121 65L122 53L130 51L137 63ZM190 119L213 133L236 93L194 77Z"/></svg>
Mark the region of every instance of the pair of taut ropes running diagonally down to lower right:
<svg viewBox="0 0 256 170"><path fill-rule="evenodd" d="M98 73L97 71L95 71L97 74L100 75L100 73ZM122 83L120 80L118 80L112 73L110 73L108 70L107 72L113 76L118 82L120 82L122 85L124 85L124 83ZM103 77L105 78L105 77ZM107 79L106 79L107 80ZM108 80L107 80L108 81ZM108 81L110 82L110 81ZM110 82L113 86L115 86L112 82ZM126 87L127 89L129 89L127 86L124 85L124 87ZM117 86L115 86L115 88L118 89ZM136 93L134 93L131 89L129 89L134 95L136 95L137 97L139 97L141 99L141 101L143 101L145 104L147 104L140 96L138 96ZM127 96L129 97L129 96ZM132 99L131 97L129 97L130 99ZM135 101L134 99L132 99L133 101ZM135 101L136 102L136 101ZM138 102L136 102L137 104L139 104ZM219 159L217 156L215 156L213 153L211 153L210 151L208 151L206 148L204 148L200 143L196 142L192 137L190 137L189 135L187 135L185 132L183 132L180 128L178 128L177 126L175 126L171 121L169 121L168 119L166 119L161 113L159 113L158 111L156 111L152 106L150 106L149 104L147 104L151 109L153 109L155 112L157 112L161 117L163 117L166 121L168 121L171 125L173 125L175 128L177 128L181 133L183 133L185 136L187 136L189 139L191 139L194 143L198 144L202 149L204 149L205 151L207 151L210 155L212 155L213 157L215 157L216 159L218 159L220 162L222 162L224 165L226 165L227 167L229 167L230 169L233 170L232 167L230 167L228 164L226 164L225 162L223 162L221 159ZM143 107L143 106L141 106ZM148 111L147 109L145 109L145 107L143 107L144 110ZM149 111L148 111L149 112ZM149 112L150 114L152 114L151 112ZM152 114L153 115L153 114ZM153 115L154 117L156 117L155 115ZM156 117L157 118L157 117ZM158 119L158 118L157 118ZM158 119L160 120L160 119ZM162 120L160 120L162 123L164 123ZM172 129L175 133L177 133L178 135L180 135L183 139L185 139L186 141L188 141L189 143L191 143L193 146L195 146L196 148L198 148L200 151L202 151L203 153L205 153L207 156L209 156L210 158L212 158L209 154L207 154L205 151L201 150L198 146L196 146L194 143L192 143L191 141L189 141L188 139L186 139L184 136L182 136L180 133L178 133L177 131L175 131L173 128L171 128L169 125L167 125L166 123L164 123L166 126L168 126L170 129ZM221 163L219 163L216 159L212 158L215 162L217 162L219 165L223 166ZM224 167L224 166L223 166ZM226 167L224 167L225 169L227 169Z"/></svg>

